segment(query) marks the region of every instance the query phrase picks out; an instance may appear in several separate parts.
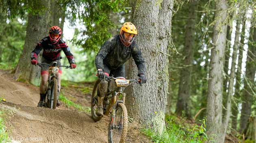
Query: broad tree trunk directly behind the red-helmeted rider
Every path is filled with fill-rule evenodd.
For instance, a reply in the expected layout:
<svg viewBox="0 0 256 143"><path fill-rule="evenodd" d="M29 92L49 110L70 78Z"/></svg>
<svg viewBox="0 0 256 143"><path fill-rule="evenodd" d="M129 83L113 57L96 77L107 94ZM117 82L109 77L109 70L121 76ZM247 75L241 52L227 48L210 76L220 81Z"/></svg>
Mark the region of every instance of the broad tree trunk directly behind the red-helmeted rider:
<svg viewBox="0 0 256 143"><path fill-rule="evenodd" d="M50 2L48 0L44 1L43 3L46 4L46 7L50 7ZM15 69L14 79L39 85L40 68L30 64L30 54L37 42L48 34L48 16L48 11L44 15L32 15L31 13L28 15L24 49ZM40 55L38 55L38 62L41 62Z"/></svg>

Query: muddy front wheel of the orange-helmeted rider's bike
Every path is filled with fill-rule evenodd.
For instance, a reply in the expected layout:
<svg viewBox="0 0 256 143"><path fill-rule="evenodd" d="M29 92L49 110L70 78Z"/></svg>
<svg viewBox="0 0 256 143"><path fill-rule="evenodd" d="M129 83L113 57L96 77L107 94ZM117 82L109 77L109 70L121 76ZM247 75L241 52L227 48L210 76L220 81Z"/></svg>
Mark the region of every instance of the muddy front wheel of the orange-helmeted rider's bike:
<svg viewBox="0 0 256 143"><path fill-rule="evenodd" d="M127 130L127 109L123 103L118 103L109 120L108 143L125 143Z"/></svg>

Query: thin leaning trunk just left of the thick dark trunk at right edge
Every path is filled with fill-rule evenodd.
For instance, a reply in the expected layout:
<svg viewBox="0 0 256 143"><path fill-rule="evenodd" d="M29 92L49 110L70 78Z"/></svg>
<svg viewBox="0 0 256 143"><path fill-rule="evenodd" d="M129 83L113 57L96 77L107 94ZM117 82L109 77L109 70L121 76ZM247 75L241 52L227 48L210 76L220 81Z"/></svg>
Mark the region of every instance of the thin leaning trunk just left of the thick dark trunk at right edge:
<svg viewBox="0 0 256 143"><path fill-rule="evenodd" d="M232 102L232 128L236 130L237 126L237 114L238 114L238 103L240 98L240 84L241 84L241 68L242 68L242 59L243 59L243 46L244 46L244 35L245 35L245 21L243 22L243 28L241 33L241 44L239 46L239 55L238 63L236 69L236 84L235 84L235 93L234 100Z"/></svg>

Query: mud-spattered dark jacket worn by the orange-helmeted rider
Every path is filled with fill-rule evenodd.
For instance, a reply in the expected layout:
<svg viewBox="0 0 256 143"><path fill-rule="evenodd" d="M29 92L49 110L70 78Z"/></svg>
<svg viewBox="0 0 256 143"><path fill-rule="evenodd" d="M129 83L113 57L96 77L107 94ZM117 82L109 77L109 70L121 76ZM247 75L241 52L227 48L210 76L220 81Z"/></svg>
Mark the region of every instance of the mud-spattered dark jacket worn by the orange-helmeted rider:
<svg viewBox="0 0 256 143"><path fill-rule="evenodd" d="M95 57L95 65L97 69L103 69L103 63L111 70L117 69L120 65L124 65L128 59L132 57L138 67L139 75L145 75L145 61L141 55L141 50L136 42L132 42L129 47L125 47L119 38L119 35L109 38L101 46Z"/></svg>

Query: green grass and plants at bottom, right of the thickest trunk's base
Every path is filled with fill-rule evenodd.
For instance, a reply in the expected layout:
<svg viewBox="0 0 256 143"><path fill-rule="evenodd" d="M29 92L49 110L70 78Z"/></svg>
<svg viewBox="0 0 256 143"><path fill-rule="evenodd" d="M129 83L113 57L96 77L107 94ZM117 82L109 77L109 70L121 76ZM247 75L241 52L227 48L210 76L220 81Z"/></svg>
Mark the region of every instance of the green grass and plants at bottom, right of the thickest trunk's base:
<svg viewBox="0 0 256 143"><path fill-rule="evenodd" d="M200 120L201 126L197 124L190 124L184 126L182 120L181 123L176 124L174 118L169 116L166 119L166 129L162 135L157 134L150 128L142 129L142 132L150 137L154 143L204 143L207 141L213 141L213 138L206 135L206 119Z"/></svg>

